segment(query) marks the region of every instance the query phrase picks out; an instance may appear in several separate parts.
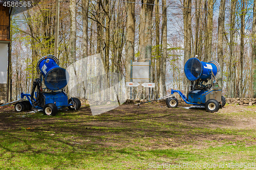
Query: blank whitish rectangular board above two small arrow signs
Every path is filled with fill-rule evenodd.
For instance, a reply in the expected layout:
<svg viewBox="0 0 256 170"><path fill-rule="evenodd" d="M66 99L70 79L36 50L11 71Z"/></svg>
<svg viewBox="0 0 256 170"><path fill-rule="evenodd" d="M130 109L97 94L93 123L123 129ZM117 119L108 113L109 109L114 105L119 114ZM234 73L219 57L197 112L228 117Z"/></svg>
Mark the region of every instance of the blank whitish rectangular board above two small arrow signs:
<svg viewBox="0 0 256 170"><path fill-rule="evenodd" d="M149 82L150 62L133 62L133 82Z"/></svg>

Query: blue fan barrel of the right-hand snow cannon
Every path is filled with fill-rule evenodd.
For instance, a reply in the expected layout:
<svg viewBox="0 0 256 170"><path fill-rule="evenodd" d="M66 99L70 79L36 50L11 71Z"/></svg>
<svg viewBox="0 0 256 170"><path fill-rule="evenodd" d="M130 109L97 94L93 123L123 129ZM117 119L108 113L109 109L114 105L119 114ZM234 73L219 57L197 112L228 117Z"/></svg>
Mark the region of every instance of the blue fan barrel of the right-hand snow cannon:
<svg viewBox="0 0 256 170"><path fill-rule="evenodd" d="M190 58L184 66L184 72L189 81L211 79L211 71L217 79L220 75L220 64L215 60L207 63L197 58Z"/></svg>

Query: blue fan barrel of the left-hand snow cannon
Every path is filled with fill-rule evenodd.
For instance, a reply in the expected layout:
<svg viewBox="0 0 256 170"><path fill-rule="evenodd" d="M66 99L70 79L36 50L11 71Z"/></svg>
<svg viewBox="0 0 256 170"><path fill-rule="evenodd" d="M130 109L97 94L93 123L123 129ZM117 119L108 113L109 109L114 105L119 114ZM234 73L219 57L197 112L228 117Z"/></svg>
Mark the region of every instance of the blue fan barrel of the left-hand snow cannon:
<svg viewBox="0 0 256 170"><path fill-rule="evenodd" d="M45 86L49 90L59 90L67 86L69 74L65 68L59 67L59 61L55 56L42 57L36 66L38 74L45 78Z"/></svg>

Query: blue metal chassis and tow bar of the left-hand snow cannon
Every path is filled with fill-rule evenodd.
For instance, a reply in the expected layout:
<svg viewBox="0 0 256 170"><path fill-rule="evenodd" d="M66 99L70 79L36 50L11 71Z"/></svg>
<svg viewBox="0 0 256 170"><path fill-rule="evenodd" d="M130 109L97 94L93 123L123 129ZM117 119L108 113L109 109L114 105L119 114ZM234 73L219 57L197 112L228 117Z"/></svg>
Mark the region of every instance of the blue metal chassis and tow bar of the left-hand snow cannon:
<svg viewBox="0 0 256 170"><path fill-rule="evenodd" d="M59 92L60 93L60 96L58 97L58 95L56 94L51 94L51 93L44 93L46 94L46 98L45 98L45 104L49 104L49 103L56 103L55 105L57 106L58 109L61 109L61 108L65 108L65 107L69 107L69 106L73 106L73 104L68 104L68 97L65 99L63 99L63 96L61 96L61 93L62 94L65 94L65 92ZM43 109L42 107L40 106L34 106L32 101L31 101L31 95L30 94L24 94L23 92L20 94L21 95L21 98L22 100L24 99L24 97L26 96L26 98L28 99L29 103L31 104L31 106L35 109ZM53 98L47 98L47 97L53 97ZM58 100L58 99L61 99L61 100ZM35 101L35 98L33 98L33 100ZM57 102L56 102L57 100ZM62 101L62 102L61 102Z"/></svg>

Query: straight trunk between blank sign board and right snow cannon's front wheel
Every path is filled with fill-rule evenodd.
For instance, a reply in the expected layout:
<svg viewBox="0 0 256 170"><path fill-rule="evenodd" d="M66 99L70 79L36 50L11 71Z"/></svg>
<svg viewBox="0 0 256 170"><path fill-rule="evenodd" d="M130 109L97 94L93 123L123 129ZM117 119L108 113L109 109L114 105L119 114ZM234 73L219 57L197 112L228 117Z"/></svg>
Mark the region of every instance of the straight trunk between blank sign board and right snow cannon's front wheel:
<svg viewBox="0 0 256 170"><path fill-rule="evenodd" d="M162 24L162 46L163 46L163 56L161 60L161 72L160 72L160 84L159 84L159 94L161 97L166 94L165 85L165 71L166 71L166 58L167 58L167 9L166 0L162 0L162 11L163 11L163 24Z"/></svg>

